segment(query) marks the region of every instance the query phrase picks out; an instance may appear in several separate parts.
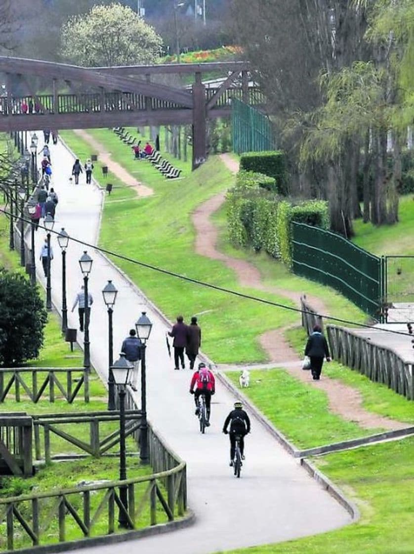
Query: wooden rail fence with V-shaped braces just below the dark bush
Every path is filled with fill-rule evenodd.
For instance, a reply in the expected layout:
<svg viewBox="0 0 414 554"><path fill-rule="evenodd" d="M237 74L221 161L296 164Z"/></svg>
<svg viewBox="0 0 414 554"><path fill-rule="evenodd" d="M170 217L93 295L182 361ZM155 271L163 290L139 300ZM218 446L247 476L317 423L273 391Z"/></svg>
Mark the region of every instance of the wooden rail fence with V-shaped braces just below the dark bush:
<svg viewBox="0 0 414 554"><path fill-rule="evenodd" d="M45 376L42 374L46 374ZM59 379L66 377L65 382ZM27 376L32 377L32 382L27 382ZM40 386L38 382L40 376ZM42 380L43 379L43 380ZM77 382L76 380L77 379ZM75 384L76 383L76 384ZM13 387L14 385L14 387ZM71 404L84 387L84 401L89 402L89 375L85 368L79 367L14 367L0 369L0 402L4 402L14 392L15 402L20 402L20 396L26 394L35 404L40 398L49 393L49 402L55 401L55 387L62 396ZM12 388L13 387L13 388Z"/></svg>

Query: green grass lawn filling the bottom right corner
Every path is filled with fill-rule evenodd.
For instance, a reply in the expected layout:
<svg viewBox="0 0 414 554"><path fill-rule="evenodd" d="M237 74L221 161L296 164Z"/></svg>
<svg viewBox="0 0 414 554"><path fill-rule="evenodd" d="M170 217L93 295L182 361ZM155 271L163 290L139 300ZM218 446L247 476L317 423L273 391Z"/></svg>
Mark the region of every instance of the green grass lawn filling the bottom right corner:
<svg viewBox="0 0 414 554"><path fill-rule="evenodd" d="M227 554L412 554L413 456L414 438L408 438L318 458L318 468L356 502L361 519L321 535Z"/></svg>

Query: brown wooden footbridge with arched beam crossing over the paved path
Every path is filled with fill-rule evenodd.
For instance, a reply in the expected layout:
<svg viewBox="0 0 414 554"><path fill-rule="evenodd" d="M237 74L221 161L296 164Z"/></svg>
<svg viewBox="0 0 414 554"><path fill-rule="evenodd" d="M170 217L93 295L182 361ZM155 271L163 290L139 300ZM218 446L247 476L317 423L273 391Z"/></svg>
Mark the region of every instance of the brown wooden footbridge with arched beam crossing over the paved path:
<svg viewBox="0 0 414 554"><path fill-rule="evenodd" d="M226 79L216 88L206 72ZM192 125L193 167L206 157L206 121L230 115L234 98L262 105L245 61L82 68L50 61L0 57L6 90L0 131L92 129L126 125ZM159 75L194 75L191 90L153 82ZM48 90L40 94L39 89ZM68 94L68 90L71 94Z"/></svg>

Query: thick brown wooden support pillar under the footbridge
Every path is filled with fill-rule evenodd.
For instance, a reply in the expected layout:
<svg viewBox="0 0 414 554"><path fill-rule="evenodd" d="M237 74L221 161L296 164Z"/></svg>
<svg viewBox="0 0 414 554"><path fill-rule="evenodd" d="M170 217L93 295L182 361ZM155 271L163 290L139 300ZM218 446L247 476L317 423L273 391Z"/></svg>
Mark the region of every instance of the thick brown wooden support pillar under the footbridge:
<svg viewBox="0 0 414 554"><path fill-rule="evenodd" d="M193 171L205 162L206 157L205 86L201 83L201 73L196 73L193 84Z"/></svg>

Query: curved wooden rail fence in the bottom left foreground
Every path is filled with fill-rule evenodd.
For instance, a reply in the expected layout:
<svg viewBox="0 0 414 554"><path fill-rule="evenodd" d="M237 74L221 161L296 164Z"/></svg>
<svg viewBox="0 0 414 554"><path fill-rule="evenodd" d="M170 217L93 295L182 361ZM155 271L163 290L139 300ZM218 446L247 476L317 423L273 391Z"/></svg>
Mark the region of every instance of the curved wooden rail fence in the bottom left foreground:
<svg viewBox="0 0 414 554"><path fill-rule="evenodd" d="M8 551L116 531L115 507L131 530L182 517L187 509L185 463L148 427L150 463L158 473L72 489L0 500L0 548ZM173 465L173 467L170 467ZM128 509L118 489L126 487Z"/></svg>

